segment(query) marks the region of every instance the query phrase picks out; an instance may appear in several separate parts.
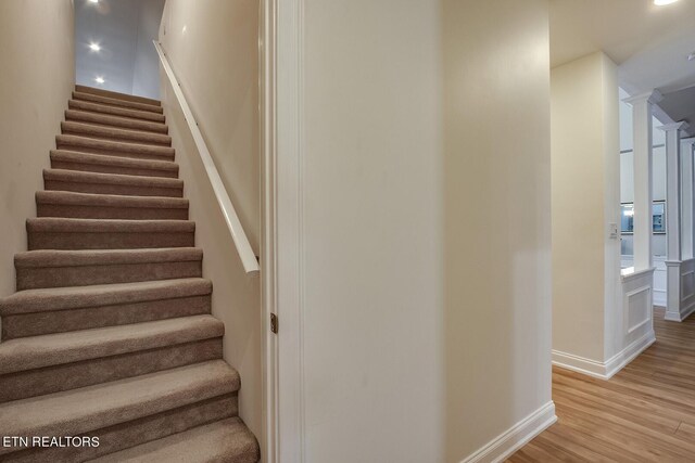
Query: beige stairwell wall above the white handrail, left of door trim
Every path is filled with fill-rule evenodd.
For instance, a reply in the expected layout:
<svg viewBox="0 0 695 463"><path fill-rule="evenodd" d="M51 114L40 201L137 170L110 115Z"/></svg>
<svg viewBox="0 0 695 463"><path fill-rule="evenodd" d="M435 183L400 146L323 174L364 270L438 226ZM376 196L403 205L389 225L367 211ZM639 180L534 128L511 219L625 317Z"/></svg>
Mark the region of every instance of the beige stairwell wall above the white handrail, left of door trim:
<svg viewBox="0 0 695 463"><path fill-rule="evenodd" d="M160 41L257 254L258 2L168 0Z"/></svg>

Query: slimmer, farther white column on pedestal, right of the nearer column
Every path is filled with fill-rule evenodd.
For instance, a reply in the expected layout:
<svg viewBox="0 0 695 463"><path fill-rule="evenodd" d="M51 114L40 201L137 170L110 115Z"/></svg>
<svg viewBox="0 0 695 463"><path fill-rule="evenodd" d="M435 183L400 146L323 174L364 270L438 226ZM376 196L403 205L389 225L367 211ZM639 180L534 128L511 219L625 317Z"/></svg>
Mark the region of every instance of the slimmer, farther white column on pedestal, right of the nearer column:
<svg viewBox="0 0 695 463"><path fill-rule="evenodd" d="M685 123L659 127L666 132L666 319L681 318L681 134Z"/></svg>

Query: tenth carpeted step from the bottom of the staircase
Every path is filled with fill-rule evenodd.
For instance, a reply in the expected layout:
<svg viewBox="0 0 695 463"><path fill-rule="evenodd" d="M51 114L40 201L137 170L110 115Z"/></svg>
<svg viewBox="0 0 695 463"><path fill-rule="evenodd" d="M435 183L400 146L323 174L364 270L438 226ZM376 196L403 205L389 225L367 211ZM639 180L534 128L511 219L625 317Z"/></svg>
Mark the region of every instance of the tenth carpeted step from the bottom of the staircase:
<svg viewBox="0 0 695 463"><path fill-rule="evenodd" d="M100 140L70 134L56 136L55 144L59 150L135 157L139 159L174 160L174 149L169 146L154 146L150 144Z"/></svg>

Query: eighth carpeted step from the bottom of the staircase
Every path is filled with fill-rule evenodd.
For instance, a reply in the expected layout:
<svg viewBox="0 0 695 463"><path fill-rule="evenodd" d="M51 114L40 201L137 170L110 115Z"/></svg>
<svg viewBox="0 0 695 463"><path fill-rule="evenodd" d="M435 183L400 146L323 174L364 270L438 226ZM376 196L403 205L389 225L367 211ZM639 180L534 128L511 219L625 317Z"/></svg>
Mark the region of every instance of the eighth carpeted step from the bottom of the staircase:
<svg viewBox="0 0 695 463"><path fill-rule="evenodd" d="M74 191L63 190L63 188L76 189L80 188L78 185L81 185L81 189L96 189L97 187L94 185L102 185L103 190L113 191L113 193L102 194L128 194L129 191L136 191L138 193L132 193L132 195L139 196L142 195L141 192L151 191L152 194L148 195L170 197L181 197L184 195L182 180L163 177L86 172L67 169L43 169L43 182L48 187L47 187L47 190ZM109 190L109 188L111 188L111 190ZM92 192L93 191L77 191L77 193Z"/></svg>

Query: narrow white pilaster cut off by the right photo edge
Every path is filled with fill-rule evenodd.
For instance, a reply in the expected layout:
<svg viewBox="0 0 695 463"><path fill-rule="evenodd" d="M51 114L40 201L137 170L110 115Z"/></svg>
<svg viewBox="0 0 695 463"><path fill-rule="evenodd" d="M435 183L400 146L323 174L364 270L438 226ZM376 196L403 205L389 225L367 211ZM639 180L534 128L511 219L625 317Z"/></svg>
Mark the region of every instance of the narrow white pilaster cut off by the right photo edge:
<svg viewBox="0 0 695 463"><path fill-rule="evenodd" d="M681 260L695 257L695 166L693 164L693 144L695 138L681 140Z"/></svg>

